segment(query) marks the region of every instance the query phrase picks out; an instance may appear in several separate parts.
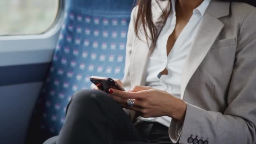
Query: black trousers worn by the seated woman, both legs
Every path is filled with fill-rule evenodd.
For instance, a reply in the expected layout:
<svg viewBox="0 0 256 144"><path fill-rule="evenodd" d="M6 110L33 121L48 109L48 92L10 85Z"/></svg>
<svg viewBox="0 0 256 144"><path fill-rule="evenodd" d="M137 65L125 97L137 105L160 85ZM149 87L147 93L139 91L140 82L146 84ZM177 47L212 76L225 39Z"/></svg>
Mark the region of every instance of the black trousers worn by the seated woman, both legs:
<svg viewBox="0 0 256 144"><path fill-rule="evenodd" d="M67 106L59 136L44 144L172 144L168 127L142 122L133 125L122 107L105 92L80 90Z"/></svg>

